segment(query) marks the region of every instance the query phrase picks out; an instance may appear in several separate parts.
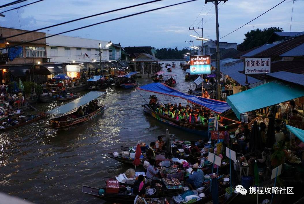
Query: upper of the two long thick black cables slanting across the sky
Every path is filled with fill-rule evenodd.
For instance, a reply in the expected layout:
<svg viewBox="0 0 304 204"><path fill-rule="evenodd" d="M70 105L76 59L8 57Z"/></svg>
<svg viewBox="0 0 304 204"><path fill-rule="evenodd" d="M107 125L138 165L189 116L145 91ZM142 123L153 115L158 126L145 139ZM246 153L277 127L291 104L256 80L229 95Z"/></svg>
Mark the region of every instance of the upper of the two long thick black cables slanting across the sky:
<svg viewBox="0 0 304 204"><path fill-rule="evenodd" d="M30 33L30 32L38 31L38 30L45 30L45 29L52 28L52 27L55 27L55 26L58 26L58 25L64 25L64 24L67 24L67 23L71 23L71 22L75 22L75 21L91 18L91 17L98 16L98 15L103 15L103 14L106 14L106 13L111 13L111 12L120 11L120 10L124 10L124 9L130 9L130 8L133 8L133 7L136 7L136 6L150 4L150 3L159 2L159 1L163 1L163 0L154 0L154 1L150 1L150 2L145 2L145 3L140 3L140 4L136 4L136 5L132 5L132 6L123 7L123 8L120 8L120 9L114 9L114 10L107 11L107 12L102 12L102 13L98 13L98 14L94 14L94 15L89 15L89 16L85 16L85 17L82 17L82 18L79 18L79 19L74 19L74 20L58 23L58 24L55 24L55 25L50 25L50 26L47 26L47 27L44 27L44 28L22 32L22 33L13 35L13 36L5 37L5 39L16 37L16 36L20 36L20 35L24 35L24 34L27 34L27 33Z"/></svg>

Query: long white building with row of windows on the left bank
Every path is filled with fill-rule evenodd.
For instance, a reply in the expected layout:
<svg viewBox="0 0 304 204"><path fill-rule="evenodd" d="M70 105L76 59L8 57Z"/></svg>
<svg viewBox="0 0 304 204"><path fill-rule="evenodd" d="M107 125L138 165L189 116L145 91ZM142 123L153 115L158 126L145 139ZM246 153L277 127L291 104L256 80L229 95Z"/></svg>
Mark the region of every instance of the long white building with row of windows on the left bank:
<svg viewBox="0 0 304 204"><path fill-rule="evenodd" d="M50 34L46 34L50 36ZM71 63L99 61L99 44L101 43L101 60L109 60L108 41L93 40L70 36L53 36L46 39L47 58L54 63Z"/></svg>

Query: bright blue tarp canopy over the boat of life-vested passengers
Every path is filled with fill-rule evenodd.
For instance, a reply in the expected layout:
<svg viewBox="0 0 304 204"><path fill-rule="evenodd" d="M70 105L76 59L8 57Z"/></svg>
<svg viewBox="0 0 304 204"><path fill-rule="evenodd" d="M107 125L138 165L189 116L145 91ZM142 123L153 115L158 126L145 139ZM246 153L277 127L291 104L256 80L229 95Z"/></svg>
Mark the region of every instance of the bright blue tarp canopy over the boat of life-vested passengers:
<svg viewBox="0 0 304 204"><path fill-rule="evenodd" d="M188 100L188 102L206 107L209 110L212 110L216 113L223 113L226 110L229 110L231 107L225 102L220 100L214 100L209 98L202 98L197 96L192 96L188 94L184 94L172 87L167 86L164 83L150 83L141 87L138 87L137 89L145 90L154 92L157 94L164 94L168 96L173 97L179 97L185 100Z"/></svg>

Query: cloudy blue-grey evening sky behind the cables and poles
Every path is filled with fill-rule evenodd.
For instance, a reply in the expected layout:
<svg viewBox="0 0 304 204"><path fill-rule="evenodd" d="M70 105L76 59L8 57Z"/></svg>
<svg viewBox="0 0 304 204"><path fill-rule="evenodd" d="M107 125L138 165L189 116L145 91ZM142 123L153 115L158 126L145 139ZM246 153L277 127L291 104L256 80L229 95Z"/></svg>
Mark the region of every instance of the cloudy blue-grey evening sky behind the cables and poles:
<svg viewBox="0 0 304 204"><path fill-rule="evenodd" d="M12 1L13 0L1 0L0 4L2 5ZM34 1L36 0L30 0L28 2ZM43 30L43 32L55 34L88 24L117 18L123 15L184 1L186 0L164 0L50 28L50 31ZM226 3L221 2L219 4L220 37L228 34L234 29L237 29L241 25L244 25L281 1L282 0L228 0ZM18 9L19 18L17 10L4 13L5 17L0 17L0 26L20 29L21 24L22 29L32 30L142 2L148 1L45 0L26 6L25 8ZM18 5L24 4L25 3L21 3ZM304 0L294 2L291 31L304 31L303 8ZM2 8L1 11L7 9L8 8ZM177 46L178 49L182 49L189 45L188 43L185 43L185 40L192 40L192 37L190 37L189 34L197 35L194 31L189 31L188 27L199 26L199 28L201 28L202 18L204 18L204 22L206 22L204 24L203 36L207 37L208 35L209 39L216 39L214 13L215 6L213 6L212 2L205 5L204 0L198 0L166 9L160 9L154 12L132 16L126 19L96 25L90 28L66 33L65 35L106 41L111 40L114 43L120 42L122 46L154 46L156 48L174 48ZM221 39L221 42L241 43L244 39L244 33L250 31L250 29L254 29L253 26L255 26L255 29L264 29L276 26L282 27L284 31L289 32L291 13L292 1L286 0L281 5L262 15L260 18ZM200 33L200 30L198 32ZM89 36L85 36L86 34ZM200 41L195 40L194 45L197 46L200 45L200 43Z"/></svg>

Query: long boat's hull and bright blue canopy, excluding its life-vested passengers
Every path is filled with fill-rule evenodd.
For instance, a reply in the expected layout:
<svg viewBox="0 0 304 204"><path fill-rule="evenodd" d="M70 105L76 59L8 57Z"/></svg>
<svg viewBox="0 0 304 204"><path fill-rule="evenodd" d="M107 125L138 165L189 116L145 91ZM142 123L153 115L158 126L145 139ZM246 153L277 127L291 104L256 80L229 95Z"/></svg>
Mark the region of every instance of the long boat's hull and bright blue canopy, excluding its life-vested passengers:
<svg viewBox="0 0 304 204"><path fill-rule="evenodd" d="M209 98L203 98L203 97L197 97L188 95L185 93L182 93L172 87L169 87L168 85L164 83L150 83L141 87L138 87L139 90L149 91L153 93L158 94L164 94L172 97L179 97L181 99L185 99L188 101L188 103L195 104L196 106L206 108L211 111L214 115L220 116L219 126L218 130L223 131L225 130L225 126L230 126L230 129L233 129L237 127L240 122L237 121L234 114L231 116L230 113L231 107L229 104L227 104L225 101L215 100L215 99L209 99ZM158 103L149 103L149 104L143 104L144 111L150 114L152 117L157 119L158 121L161 121L165 124L171 125L173 127L181 128L185 131L193 132L202 136L208 136L208 124L197 124L197 123L189 123L188 121L179 121L175 118L171 118L168 116L164 116L162 114L158 114L155 112L157 108ZM226 117L225 117L226 116ZM233 117L234 116L234 117Z"/></svg>

